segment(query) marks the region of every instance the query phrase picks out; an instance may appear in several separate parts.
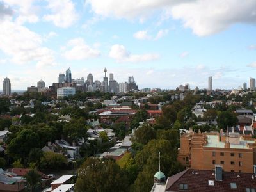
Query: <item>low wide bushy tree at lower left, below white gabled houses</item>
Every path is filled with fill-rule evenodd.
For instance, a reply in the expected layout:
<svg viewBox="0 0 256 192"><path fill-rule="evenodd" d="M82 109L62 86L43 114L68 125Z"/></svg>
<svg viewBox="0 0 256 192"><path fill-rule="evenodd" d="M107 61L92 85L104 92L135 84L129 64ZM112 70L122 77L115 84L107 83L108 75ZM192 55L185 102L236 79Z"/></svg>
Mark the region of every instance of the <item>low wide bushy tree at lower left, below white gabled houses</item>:
<svg viewBox="0 0 256 192"><path fill-rule="evenodd" d="M54 152L44 152L44 155L40 159L40 167L50 168L58 170L67 166L67 158L63 154L57 154Z"/></svg>

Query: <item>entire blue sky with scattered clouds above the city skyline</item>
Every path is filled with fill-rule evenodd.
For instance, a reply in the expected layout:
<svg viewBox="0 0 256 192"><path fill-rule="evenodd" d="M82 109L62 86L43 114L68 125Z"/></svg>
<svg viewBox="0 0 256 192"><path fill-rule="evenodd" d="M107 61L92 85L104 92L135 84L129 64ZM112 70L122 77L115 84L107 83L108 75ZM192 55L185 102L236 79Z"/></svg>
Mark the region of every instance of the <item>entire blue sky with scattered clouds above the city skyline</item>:
<svg viewBox="0 0 256 192"><path fill-rule="evenodd" d="M49 86L68 67L139 88L238 88L256 77L256 0L0 0L0 81Z"/></svg>

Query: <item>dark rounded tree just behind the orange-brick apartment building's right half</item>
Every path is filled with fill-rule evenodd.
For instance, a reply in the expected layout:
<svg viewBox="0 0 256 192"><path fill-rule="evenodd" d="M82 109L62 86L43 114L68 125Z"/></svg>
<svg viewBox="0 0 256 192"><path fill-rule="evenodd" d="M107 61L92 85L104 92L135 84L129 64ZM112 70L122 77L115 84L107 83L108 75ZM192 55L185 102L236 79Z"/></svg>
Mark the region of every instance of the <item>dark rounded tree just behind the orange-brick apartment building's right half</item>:
<svg viewBox="0 0 256 192"><path fill-rule="evenodd" d="M220 129L235 126L238 122L236 113L230 111L221 111L217 115L217 122Z"/></svg>

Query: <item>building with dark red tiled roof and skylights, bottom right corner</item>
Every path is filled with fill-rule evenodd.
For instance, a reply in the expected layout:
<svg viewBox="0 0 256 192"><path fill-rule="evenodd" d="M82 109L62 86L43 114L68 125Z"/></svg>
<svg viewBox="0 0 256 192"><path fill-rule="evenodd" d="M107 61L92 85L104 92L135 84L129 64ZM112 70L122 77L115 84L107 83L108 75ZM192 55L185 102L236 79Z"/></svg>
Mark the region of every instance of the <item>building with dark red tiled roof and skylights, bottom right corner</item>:
<svg viewBox="0 0 256 192"><path fill-rule="evenodd" d="M166 183L155 183L152 192L167 191L256 191L255 173L223 171L221 166L212 170L186 169L168 177Z"/></svg>

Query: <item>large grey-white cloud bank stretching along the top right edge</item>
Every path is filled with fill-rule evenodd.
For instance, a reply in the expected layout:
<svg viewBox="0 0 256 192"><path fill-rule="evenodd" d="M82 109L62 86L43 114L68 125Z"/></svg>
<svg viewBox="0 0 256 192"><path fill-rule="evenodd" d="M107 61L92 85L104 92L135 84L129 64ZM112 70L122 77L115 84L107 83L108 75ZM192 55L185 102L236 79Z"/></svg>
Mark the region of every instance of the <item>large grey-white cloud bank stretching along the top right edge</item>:
<svg viewBox="0 0 256 192"><path fill-rule="evenodd" d="M87 0L93 12L104 17L145 20L155 11L164 12L165 19L182 20L185 28L198 36L223 31L237 23L256 23L256 1L248 0Z"/></svg>

